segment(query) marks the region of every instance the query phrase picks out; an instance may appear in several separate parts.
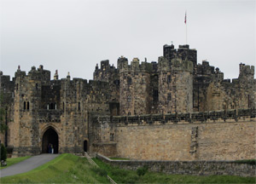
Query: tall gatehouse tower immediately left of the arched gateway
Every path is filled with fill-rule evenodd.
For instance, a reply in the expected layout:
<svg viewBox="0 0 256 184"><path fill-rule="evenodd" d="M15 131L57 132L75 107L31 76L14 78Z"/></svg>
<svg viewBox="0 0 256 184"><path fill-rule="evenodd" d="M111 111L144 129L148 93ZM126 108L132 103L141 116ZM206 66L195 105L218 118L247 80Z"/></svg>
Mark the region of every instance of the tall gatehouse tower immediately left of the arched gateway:
<svg viewBox="0 0 256 184"><path fill-rule="evenodd" d="M10 124L10 145L14 146L15 155L31 155L41 152L40 138L38 137L38 109L41 107L42 83L50 78L49 71L35 66L26 75L20 67L15 72L15 105L14 122Z"/></svg>

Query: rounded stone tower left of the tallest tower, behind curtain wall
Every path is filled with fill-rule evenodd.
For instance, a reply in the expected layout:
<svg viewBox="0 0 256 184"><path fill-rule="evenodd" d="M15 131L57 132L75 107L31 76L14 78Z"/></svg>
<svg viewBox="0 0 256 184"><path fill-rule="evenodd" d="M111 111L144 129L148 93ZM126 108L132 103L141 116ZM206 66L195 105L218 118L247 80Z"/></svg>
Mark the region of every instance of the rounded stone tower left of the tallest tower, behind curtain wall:
<svg viewBox="0 0 256 184"><path fill-rule="evenodd" d="M124 57L119 58L119 109L120 115L139 115L150 113L149 83L150 74L147 63L139 64L134 58L131 66Z"/></svg>

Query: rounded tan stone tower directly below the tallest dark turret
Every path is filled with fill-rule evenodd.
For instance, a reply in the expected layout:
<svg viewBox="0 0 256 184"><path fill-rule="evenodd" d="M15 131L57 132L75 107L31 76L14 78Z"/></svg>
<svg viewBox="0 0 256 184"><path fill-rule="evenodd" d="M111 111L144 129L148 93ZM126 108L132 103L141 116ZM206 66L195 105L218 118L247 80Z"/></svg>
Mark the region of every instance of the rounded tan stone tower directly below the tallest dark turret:
<svg viewBox="0 0 256 184"><path fill-rule="evenodd" d="M193 63L159 57L159 112L192 112Z"/></svg>

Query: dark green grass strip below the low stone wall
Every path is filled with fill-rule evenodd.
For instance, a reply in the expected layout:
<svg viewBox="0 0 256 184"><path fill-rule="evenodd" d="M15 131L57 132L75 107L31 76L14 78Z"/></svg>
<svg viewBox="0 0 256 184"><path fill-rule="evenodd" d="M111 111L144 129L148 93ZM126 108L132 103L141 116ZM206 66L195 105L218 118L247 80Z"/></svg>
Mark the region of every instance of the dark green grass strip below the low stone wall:
<svg viewBox="0 0 256 184"><path fill-rule="evenodd" d="M233 175L166 175L147 171L145 175L137 175L134 170L121 170L100 159L93 159L117 183L255 183L255 177L240 177Z"/></svg>

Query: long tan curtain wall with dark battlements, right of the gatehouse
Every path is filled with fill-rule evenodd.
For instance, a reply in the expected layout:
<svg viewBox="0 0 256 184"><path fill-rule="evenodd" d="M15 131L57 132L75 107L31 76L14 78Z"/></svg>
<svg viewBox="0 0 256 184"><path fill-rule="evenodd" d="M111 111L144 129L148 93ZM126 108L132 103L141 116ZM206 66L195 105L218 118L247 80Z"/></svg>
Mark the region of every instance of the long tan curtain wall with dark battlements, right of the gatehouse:
<svg viewBox="0 0 256 184"><path fill-rule="evenodd" d="M96 117L94 151L139 160L255 158L255 109Z"/></svg>

